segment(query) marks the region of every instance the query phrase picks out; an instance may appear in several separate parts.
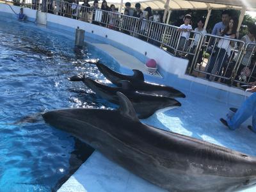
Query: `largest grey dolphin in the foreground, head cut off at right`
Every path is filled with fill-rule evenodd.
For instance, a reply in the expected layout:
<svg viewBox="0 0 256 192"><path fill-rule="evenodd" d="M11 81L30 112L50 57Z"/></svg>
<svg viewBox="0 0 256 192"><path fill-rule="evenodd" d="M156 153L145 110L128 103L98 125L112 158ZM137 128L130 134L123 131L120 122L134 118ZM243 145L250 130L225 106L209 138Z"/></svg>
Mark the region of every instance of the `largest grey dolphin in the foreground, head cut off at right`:
<svg viewBox="0 0 256 192"><path fill-rule="evenodd" d="M120 108L60 109L45 122L168 191L237 191L256 183L256 158L142 124L127 97Z"/></svg>

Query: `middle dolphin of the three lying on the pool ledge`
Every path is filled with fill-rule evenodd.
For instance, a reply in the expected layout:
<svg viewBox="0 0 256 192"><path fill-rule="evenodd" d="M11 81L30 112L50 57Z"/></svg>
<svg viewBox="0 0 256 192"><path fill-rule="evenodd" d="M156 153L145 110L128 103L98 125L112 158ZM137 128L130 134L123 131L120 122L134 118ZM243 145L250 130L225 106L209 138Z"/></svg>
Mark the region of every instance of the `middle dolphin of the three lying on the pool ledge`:
<svg viewBox="0 0 256 192"><path fill-rule="evenodd" d="M172 109L181 106L178 100L169 97L138 93L134 90L129 81L120 81L119 84L121 84L122 87L112 87L97 83L85 75L73 76L68 79L70 81L83 81L83 83L97 95L114 104L119 104L116 92L124 93L131 99L139 118L148 118L159 109Z"/></svg>

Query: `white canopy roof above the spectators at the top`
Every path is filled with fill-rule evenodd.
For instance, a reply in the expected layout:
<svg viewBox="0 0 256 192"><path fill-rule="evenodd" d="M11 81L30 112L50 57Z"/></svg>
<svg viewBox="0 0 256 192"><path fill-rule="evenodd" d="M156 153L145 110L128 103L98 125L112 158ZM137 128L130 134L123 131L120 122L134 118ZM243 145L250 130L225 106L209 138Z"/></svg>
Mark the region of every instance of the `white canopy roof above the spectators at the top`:
<svg viewBox="0 0 256 192"><path fill-rule="evenodd" d="M100 4L101 2L99 1ZM107 2L108 5L115 4L116 7L119 7L121 0L107 0ZM152 10L164 10L166 4L166 0L124 0L124 3L126 2L130 2L132 7L136 3L140 3L142 9L150 6ZM246 7L246 10L256 11L256 0L170 0L169 3L170 10L241 10L243 7Z"/></svg>

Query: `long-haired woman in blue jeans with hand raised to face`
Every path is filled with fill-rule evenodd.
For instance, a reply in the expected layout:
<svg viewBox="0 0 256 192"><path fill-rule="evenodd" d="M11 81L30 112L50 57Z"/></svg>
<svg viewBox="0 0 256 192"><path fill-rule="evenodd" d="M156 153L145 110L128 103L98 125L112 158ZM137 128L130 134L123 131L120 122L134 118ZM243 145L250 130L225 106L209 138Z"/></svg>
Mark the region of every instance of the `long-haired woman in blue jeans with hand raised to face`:
<svg viewBox="0 0 256 192"><path fill-rule="evenodd" d="M221 31L220 35L225 38L236 38L237 20L230 19L227 28ZM228 39L221 38L216 47L216 52L211 56L207 72L211 74L221 75L221 68L224 67L228 56L231 55L231 48L234 47L234 42ZM207 75L207 79L209 79ZM212 80L212 79L210 79Z"/></svg>

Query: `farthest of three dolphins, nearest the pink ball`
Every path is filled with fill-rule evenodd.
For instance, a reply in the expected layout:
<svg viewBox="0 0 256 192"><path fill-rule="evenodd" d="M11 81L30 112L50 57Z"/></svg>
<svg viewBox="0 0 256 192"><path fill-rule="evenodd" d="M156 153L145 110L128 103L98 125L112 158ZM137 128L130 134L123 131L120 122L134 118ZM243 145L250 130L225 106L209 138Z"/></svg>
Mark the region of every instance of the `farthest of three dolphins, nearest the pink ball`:
<svg viewBox="0 0 256 192"><path fill-rule="evenodd" d="M116 86L120 86L120 80L127 80L132 83L134 89L140 93L147 93L152 95L163 95L164 97L186 97L184 93L163 84L153 84L145 82L143 72L140 70L133 69L134 74L127 76L111 70L106 65L100 63L99 60L86 60L88 63L97 65L100 72Z"/></svg>

